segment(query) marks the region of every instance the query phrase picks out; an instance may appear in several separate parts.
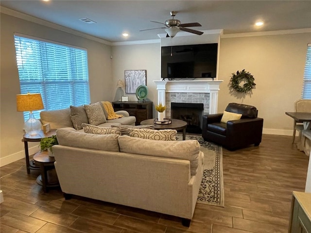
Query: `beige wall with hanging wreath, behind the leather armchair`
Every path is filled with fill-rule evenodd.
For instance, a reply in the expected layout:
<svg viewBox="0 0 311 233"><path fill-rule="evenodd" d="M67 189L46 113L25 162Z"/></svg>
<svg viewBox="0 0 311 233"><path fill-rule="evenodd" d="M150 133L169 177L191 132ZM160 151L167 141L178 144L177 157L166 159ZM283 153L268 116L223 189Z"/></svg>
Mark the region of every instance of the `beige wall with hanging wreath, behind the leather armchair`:
<svg viewBox="0 0 311 233"><path fill-rule="evenodd" d="M294 111L300 98L307 44L311 33L223 38L220 41L218 112L229 102L251 104L264 118L263 133L293 133L293 119L285 115ZM245 69L254 75L256 89L252 95L230 94L231 73Z"/></svg>

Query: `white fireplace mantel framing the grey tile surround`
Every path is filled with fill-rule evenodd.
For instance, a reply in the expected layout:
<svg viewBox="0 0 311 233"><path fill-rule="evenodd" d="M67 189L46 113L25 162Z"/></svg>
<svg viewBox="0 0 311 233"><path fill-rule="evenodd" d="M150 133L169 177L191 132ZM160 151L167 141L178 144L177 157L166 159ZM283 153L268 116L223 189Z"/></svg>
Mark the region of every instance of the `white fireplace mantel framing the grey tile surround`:
<svg viewBox="0 0 311 233"><path fill-rule="evenodd" d="M165 93L209 93L209 114L217 113L219 85L223 80L153 81L157 89L157 102L166 103Z"/></svg>

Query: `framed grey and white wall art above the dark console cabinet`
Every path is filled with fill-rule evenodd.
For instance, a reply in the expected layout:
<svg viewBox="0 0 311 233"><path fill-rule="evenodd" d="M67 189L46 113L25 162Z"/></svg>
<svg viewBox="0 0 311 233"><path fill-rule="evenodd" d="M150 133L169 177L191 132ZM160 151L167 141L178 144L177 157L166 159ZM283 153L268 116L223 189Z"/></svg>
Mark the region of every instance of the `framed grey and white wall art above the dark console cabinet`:
<svg viewBox="0 0 311 233"><path fill-rule="evenodd" d="M146 70L124 70L125 93L135 94L140 85L146 85Z"/></svg>

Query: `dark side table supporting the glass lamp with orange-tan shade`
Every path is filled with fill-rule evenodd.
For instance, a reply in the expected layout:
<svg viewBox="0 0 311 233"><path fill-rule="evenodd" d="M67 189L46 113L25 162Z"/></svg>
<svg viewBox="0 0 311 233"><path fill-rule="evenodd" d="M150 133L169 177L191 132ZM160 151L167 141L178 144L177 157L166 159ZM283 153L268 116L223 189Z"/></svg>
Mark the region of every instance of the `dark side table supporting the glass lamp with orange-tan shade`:
<svg viewBox="0 0 311 233"><path fill-rule="evenodd" d="M39 170L40 169L39 166L35 165L34 161L29 161L28 142L40 142L42 138L51 137L52 135L55 135L55 134L56 134L56 129L55 130L51 130L48 133L43 133L43 131L41 130L36 135L30 135L28 133L25 133L23 135L23 139L21 141L24 142L24 146L25 146L25 157L26 157L27 174L30 174L30 169L32 169L32 170Z"/></svg>

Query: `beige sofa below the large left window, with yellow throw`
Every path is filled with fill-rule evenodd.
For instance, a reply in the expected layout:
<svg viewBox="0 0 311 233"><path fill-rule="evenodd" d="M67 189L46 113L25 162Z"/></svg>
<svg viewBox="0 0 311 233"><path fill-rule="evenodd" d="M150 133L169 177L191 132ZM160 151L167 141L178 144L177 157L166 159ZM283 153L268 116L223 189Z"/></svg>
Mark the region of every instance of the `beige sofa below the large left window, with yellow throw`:
<svg viewBox="0 0 311 233"><path fill-rule="evenodd" d="M101 102L98 102L101 103ZM98 126L101 127L111 127L112 125L135 125L136 122L136 117L135 116L129 116L129 113L126 111L117 111L116 114L122 115L124 117L122 118L118 118L118 119L107 119L107 113L104 111L104 106L101 105L103 108L103 113L104 113L104 120L102 120L100 123L98 124ZM65 128L65 127L70 127L70 128L75 128L77 130L80 130L83 132L82 127L75 127L72 121L72 106L70 106L70 108L66 108L66 109L60 109L60 110L52 110L52 111L42 111L40 112L40 120L41 123L50 124L50 128L51 129L59 129L59 128ZM74 107L76 109L78 109L80 112L76 113L76 116L80 114L80 116L82 116L81 118L84 119L82 120L82 123L89 123L85 110L84 110L84 106L79 106L79 107ZM80 124L80 126L81 126Z"/></svg>

